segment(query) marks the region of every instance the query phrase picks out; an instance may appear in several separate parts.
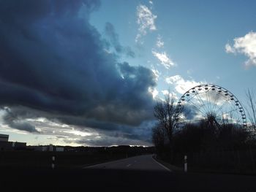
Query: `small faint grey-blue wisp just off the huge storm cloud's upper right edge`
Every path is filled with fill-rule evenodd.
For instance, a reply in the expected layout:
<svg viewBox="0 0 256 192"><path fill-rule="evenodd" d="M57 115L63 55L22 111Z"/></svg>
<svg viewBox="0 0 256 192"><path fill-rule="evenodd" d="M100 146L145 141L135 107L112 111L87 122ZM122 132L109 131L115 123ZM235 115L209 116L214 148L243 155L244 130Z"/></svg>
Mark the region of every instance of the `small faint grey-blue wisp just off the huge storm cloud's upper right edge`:
<svg viewBox="0 0 256 192"><path fill-rule="evenodd" d="M131 47L121 46L119 42L118 34L116 34L115 28L111 23L106 23L105 34L110 39L110 43L113 45L117 53L123 53L132 58L135 57L135 53L132 51Z"/></svg>

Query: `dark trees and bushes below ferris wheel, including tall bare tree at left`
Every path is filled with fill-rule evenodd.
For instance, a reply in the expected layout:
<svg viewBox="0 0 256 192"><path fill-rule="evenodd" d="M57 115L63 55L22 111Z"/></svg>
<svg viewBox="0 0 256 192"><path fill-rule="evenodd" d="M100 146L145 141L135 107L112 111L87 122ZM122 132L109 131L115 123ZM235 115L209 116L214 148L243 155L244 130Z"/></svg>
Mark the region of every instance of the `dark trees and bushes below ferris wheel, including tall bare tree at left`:
<svg viewBox="0 0 256 192"><path fill-rule="evenodd" d="M189 170L256 174L255 123L217 123L210 117L178 126L174 101L167 96L154 107L158 123L152 141L158 158L183 167L187 155Z"/></svg>

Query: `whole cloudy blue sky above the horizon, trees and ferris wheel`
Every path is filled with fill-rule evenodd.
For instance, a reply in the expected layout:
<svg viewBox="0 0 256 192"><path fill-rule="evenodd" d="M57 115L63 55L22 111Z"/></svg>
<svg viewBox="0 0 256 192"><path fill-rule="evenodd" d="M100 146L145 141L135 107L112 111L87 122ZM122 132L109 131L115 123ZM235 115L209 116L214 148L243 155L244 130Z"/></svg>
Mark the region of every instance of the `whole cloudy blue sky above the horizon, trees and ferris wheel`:
<svg viewBox="0 0 256 192"><path fill-rule="evenodd" d="M152 145L154 104L255 89L256 2L0 1L0 134L27 145Z"/></svg>

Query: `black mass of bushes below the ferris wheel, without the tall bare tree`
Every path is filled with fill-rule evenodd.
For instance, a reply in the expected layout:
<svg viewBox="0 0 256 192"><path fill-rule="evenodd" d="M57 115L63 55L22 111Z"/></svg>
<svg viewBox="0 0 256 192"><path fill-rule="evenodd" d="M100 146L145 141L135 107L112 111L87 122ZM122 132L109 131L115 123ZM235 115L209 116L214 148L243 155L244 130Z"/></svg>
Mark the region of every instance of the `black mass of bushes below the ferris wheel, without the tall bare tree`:
<svg viewBox="0 0 256 192"><path fill-rule="evenodd" d="M184 155L188 156L192 171L236 172L256 174L256 139L249 131L227 124L218 129L187 124L173 134L172 142L157 145L159 158L184 166Z"/></svg>

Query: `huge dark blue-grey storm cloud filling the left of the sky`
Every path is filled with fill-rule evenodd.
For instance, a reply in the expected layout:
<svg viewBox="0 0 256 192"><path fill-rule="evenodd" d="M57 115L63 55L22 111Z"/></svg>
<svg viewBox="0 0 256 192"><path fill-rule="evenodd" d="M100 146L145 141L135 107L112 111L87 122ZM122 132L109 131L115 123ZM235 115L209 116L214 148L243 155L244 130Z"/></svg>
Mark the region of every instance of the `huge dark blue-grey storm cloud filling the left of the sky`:
<svg viewBox="0 0 256 192"><path fill-rule="evenodd" d="M154 74L105 51L105 39L89 23L97 7L89 0L0 1L0 105L21 123L7 124L36 130L18 121L30 116L118 130L152 119ZM111 42L120 45L108 25Z"/></svg>

